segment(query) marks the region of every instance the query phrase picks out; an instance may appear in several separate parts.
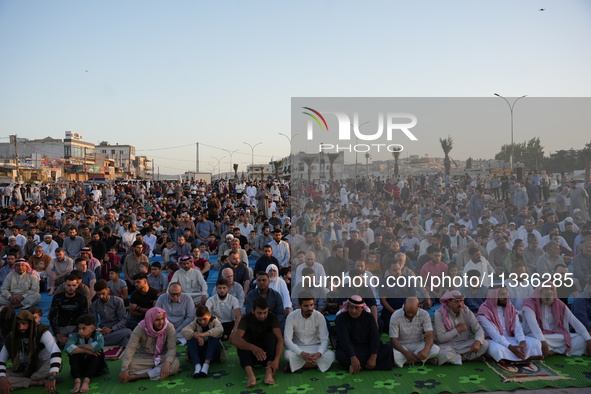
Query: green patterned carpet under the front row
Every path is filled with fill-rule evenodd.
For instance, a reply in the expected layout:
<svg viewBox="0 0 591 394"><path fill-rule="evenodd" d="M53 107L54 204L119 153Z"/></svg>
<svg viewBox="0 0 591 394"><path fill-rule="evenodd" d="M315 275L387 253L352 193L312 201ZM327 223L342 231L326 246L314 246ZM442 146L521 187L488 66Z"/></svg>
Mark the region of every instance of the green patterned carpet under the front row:
<svg viewBox="0 0 591 394"><path fill-rule="evenodd" d="M510 391L514 389L541 389L544 387L591 387L591 357L552 356L544 363L569 379L538 380L527 383L503 383L503 378L490 369L485 363L470 362L462 366L444 365L424 367L394 368L392 371L362 371L350 375L338 369L335 363L326 373L307 370L293 374L278 372L275 375L276 385L263 384L264 369L256 369L259 382L254 388L246 389L246 375L240 368L236 349L227 351L225 364L213 364L210 376L192 379L193 367L186 359L185 348L178 348L181 360L181 371L165 381L141 380L121 384L118 381L121 361L109 361L111 373L91 381L91 394L141 393L143 391L180 394L180 393L440 393L440 392L475 392L475 391ZM281 369L285 361L281 362ZM60 377L64 381L58 384L58 391L69 393L73 387L73 379L69 376L67 358ZM155 391L157 390L157 391ZM26 393L43 393L43 388L31 388Z"/></svg>

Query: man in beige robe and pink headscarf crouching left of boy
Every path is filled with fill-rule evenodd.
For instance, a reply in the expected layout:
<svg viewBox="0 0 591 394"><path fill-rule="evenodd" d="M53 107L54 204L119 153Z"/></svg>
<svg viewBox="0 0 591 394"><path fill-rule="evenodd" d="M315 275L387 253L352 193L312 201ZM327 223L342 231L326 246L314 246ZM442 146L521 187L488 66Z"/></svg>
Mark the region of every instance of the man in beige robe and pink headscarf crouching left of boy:
<svg viewBox="0 0 591 394"><path fill-rule="evenodd" d="M164 309L150 308L131 333L123 352L119 380L164 380L176 374L179 365L174 326L166 319Z"/></svg>

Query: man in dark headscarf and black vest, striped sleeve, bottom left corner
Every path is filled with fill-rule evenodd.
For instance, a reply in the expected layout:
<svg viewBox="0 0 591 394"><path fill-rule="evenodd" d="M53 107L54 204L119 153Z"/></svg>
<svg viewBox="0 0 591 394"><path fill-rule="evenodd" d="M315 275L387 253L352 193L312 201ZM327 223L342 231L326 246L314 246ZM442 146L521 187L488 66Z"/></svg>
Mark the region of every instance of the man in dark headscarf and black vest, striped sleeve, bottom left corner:
<svg viewBox="0 0 591 394"><path fill-rule="evenodd" d="M12 367L7 370L9 359ZM37 323L31 312L21 311L0 351L0 392L30 386L45 386L45 391L54 392L61 364L61 352L49 327Z"/></svg>

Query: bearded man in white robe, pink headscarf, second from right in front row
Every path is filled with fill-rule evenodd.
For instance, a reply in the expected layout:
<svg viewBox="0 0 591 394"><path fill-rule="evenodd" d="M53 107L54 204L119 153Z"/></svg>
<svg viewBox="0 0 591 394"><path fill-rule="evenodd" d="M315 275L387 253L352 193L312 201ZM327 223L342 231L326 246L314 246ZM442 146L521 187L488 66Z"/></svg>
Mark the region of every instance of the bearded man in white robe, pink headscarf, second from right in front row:
<svg viewBox="0 0 591 394"><path fill-rule="evenodd" d="M487 353L495 361L542 358L540 341L523 334L517 310L511 304L506 288L488 291L486 301L478 310L477 319L487 338L490 338Z"/></svg>

